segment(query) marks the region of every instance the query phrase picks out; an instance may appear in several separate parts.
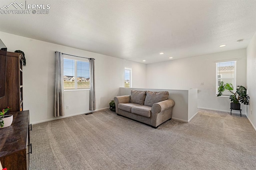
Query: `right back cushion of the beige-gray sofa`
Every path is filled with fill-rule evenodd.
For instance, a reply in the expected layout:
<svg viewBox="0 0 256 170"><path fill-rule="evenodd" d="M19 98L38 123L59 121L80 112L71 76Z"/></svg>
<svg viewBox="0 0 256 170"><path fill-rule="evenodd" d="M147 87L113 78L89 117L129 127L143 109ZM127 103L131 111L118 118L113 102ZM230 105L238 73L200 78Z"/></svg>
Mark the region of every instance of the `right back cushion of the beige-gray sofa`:
<svg viewBox="0 0 256 170"><path fill-rule="evenodd" d="M159 92L147 91L144 105L152 106L154 103L167 100L168 96L169 96L168 91L159 91Z"/></svg>

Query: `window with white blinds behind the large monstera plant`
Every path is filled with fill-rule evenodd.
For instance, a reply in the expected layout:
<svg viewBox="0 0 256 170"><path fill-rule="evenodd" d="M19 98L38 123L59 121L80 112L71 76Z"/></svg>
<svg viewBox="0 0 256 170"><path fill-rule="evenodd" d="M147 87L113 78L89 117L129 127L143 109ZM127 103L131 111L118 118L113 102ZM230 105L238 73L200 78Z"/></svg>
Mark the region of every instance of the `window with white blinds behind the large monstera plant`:
<svg viewBox="0 0 256 170"><path fill-rule="evenodd" d="M234 92L236 91L236 61L224 61L216 63L216 95L218 94L218 86L220 82L224 84L232 83ZM228 91L223 92L224 96L230 96Z"/></svg>

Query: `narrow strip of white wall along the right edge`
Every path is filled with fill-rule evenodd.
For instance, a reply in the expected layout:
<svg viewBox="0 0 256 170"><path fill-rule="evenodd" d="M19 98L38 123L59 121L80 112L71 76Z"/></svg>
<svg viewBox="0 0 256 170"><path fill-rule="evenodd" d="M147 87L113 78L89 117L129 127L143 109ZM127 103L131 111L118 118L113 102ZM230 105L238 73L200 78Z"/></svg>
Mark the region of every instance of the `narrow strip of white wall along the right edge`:
<svg viewBox="0 0 256 170"><path fill-rule="evenodd" d="M247 93L250 96L247 117L256 130L256 33L247 47Z"/></svg>

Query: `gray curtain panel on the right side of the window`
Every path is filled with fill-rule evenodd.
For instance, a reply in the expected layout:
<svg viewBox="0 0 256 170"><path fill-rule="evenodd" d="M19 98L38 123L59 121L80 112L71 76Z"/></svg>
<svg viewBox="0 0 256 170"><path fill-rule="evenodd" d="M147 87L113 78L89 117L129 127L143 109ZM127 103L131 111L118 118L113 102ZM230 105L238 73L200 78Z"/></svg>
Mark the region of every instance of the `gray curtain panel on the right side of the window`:
<svg viewBox="0 0 256 170"><path fill-rule="evenodd" d="M96 110L96 95L95 95L95 73L94 73L94 58L89 59L90 66L90 111Z"/></svg>

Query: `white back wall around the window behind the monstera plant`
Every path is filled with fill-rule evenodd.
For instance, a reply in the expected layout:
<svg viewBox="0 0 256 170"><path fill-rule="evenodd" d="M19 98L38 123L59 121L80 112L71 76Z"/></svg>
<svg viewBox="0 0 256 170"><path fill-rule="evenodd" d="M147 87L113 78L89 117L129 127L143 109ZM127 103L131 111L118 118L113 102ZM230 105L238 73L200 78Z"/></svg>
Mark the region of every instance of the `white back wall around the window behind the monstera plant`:
<svg viewBox="0 0 256 170"><path fill-rule="evenodd" d="M230 99L215 95L215 62L229 59L237 60L237 85L246 87L246 49L238 49L148 64L146 88L198 89L199 108L230 111ZM246 113L245 105L241 105L241 109Z"/></svg>

